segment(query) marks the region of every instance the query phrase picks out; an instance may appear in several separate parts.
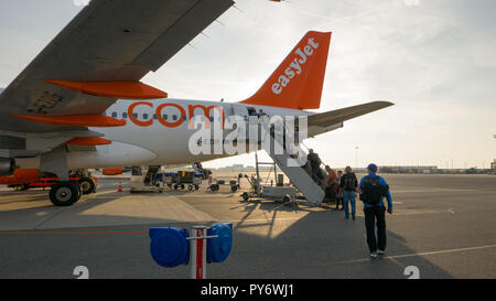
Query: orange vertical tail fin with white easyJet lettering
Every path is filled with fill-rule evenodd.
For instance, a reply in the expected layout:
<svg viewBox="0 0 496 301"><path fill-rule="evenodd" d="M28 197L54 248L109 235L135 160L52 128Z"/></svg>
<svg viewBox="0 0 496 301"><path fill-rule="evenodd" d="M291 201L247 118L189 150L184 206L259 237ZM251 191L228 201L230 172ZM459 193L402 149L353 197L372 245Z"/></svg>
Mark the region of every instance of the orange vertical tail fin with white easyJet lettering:
<svg viewBox="0 0 496 301"><path fill-rule="evenodd" d="M308 32L263 86L241 104L291 109L319 108L331 34Z"/></svg>

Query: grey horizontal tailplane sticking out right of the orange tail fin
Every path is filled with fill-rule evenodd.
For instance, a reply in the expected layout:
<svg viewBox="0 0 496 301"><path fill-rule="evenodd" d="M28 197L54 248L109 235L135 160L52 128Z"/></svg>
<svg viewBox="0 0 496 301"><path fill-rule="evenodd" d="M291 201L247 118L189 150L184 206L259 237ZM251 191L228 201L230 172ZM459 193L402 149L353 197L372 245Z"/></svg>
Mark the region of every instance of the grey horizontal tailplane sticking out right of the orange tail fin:
<svg viewBox="0 0 496 301"><path fill-rule="evenodd" d="M326 111L309 116L309 137L314 137L343 127L343 122L395 104L389 101L373 101L344 109Z"/></svg>

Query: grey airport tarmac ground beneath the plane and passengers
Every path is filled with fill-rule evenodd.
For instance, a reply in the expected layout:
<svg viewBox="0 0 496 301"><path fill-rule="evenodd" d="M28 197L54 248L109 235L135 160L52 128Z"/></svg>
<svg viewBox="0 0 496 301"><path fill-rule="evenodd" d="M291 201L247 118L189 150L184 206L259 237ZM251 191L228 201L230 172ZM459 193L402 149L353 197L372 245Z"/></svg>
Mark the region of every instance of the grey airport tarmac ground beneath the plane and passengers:
<svg viewBox="0 0 496 301"><path fill-rule="evenodd" d="M209 279L496 278L496 176L382 174L391 187L387 254L370 259L363 205L344 219L333 207L242 202L241 192L131 194L128 180L100 178L98 191L55 207L47 190L0 189L0 278L187 279L190 267L162 268L150 256L152 226L231 222L234 247ZM118 193L119 182L123 192ZM248 183L244 183L248 189ZM408 268L407 268L408 267Z"/></svg>

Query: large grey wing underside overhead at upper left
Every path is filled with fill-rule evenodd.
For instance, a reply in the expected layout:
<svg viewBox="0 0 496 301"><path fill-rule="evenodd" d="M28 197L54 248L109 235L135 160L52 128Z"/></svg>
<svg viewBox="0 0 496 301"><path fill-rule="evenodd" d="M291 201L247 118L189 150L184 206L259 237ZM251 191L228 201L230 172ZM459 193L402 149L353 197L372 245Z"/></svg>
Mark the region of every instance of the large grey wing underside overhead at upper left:
<svg viewBox="0 0 496 301"><path fill-rule="evenodd" d="M45 82L138 82L223 14L231 0L93 0L0 94L0 130L53 132L85 127L22 116L99 115L116 100Z"/></svg>

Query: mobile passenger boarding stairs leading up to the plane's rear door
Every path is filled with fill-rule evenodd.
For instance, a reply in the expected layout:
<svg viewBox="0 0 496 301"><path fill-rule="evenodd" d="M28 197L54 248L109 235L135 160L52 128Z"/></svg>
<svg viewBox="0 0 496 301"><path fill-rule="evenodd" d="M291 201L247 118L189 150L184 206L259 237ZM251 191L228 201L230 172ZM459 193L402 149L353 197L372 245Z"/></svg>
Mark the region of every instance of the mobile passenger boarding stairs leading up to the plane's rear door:
<svg viewBox="0 0 496 301"><path fill-rule="evenodd" d="M282 135L271 135L267 122L262 122L261 127L265 129L261 137L262 148L305 198L314 205L320 205L325 197L325 192L322 189L322 186L325 187L325 179L327 178L325 171L323 171L324 180L321 181L322 186L320 186L303 168L306 162L306 152L294 143L291 149L284 149L282 147L284 141ZM291 137L291 139L294 137L294 133L288 131L287 135L288 137ZM266 139L269 139L270 143L268 143ZM299 144L302 146L302 142Z"/></svg>

